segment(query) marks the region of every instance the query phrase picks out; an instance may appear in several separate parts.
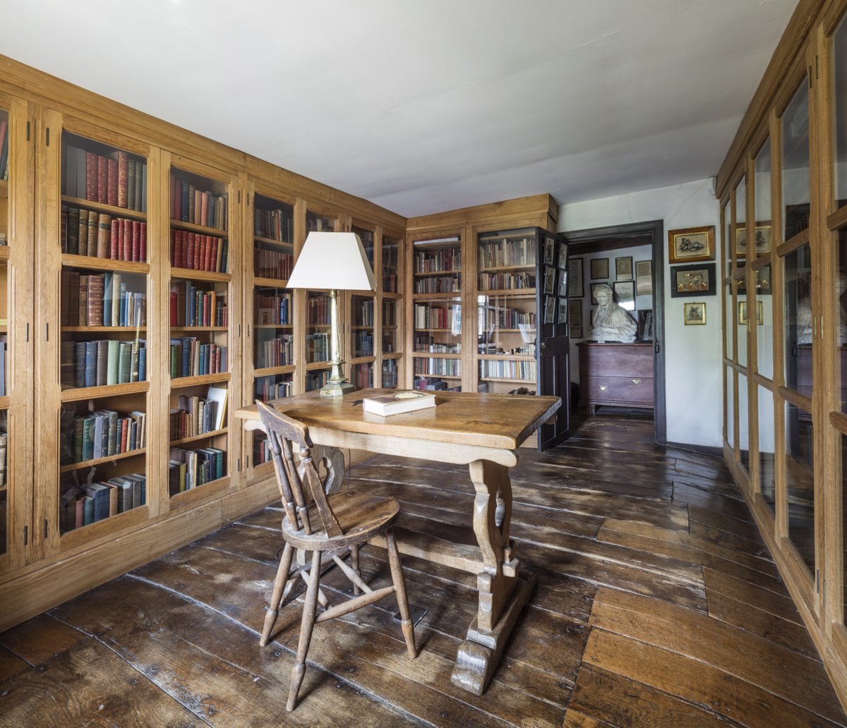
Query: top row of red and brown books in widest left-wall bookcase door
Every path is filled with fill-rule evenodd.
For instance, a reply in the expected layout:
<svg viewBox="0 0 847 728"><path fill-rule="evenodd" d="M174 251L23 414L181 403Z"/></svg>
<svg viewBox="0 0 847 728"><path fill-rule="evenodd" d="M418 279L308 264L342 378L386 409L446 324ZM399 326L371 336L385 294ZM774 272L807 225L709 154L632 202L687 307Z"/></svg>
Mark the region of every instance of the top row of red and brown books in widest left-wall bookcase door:
<svg viewBox="0 0 847 728"><path fill-rule="evenodd" d="M66 145L62 162L65 195L147 212L147 161L141 157L120 151L103 157Z"/></svg>

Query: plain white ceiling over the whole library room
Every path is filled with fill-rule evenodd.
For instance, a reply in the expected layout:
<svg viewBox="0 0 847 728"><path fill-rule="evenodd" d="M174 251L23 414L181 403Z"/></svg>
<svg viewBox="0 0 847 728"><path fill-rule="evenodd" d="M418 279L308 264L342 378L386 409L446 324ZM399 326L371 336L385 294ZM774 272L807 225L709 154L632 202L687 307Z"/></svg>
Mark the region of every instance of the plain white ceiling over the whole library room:
<svg viewBox="0 0 847 728"><path fill-rule="evenodd" d="M0 0L0 52L413 216L717 173L796 0Z"/></svg>

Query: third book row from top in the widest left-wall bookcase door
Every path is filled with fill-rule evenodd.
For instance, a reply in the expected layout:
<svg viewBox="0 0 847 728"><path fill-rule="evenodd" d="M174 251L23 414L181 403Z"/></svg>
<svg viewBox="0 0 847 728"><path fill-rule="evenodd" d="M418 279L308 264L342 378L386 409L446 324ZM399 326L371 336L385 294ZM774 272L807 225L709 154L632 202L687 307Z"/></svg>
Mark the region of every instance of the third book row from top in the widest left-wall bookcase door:
<svg viewBox="0 0 847 728"><path fill-rule="evenodd" d="M62 326L147 326L146 283L138 275L62 268L59 321Z"/></svg>

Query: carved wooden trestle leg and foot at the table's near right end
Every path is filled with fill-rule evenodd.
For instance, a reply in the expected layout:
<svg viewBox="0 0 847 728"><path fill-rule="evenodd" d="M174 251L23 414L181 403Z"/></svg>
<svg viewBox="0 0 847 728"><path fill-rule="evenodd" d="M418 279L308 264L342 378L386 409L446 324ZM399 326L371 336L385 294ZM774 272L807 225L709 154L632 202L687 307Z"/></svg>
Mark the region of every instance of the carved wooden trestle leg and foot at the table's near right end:
<svg viewBox="0 0 847 728"><path fill-rule="evenodd" d="M474 695L482 695L500 662L512 627L535 587L535 577L518 576L520 562L509 539L512 520L512 483L508 468L490 461L470 464L476 489L473 532L483 556L477 575L479 609L468 636L459 647L451 681Z"/></svg>

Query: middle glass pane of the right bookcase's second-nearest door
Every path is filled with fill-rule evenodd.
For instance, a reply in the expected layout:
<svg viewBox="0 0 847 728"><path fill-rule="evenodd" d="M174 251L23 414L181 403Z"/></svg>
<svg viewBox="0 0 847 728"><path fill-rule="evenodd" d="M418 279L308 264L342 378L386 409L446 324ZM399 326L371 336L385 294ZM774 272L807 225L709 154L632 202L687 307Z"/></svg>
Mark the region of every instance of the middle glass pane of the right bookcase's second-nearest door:
<svg viewBox="0 0 847 728"><path fill-rule="evenodd" d="M811 248L801 245L783 258L785 386L811 398Z"/></svg>

